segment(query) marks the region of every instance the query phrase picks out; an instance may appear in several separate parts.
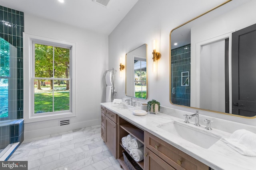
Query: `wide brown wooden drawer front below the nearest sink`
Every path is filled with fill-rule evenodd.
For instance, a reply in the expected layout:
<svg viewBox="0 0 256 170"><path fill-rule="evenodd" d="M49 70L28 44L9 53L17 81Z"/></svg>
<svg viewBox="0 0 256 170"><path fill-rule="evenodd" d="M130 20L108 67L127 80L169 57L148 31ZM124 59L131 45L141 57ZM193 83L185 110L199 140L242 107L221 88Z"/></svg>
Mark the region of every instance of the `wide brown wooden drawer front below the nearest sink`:
<svg viewBox="0 0 256 170"><path fill-rule="evenodd" d="M148 149L158 155L165 162L179 170L208 170L209 167L192 158L188 154L176 149L158 137L145 131L144 143Z"/></svg>

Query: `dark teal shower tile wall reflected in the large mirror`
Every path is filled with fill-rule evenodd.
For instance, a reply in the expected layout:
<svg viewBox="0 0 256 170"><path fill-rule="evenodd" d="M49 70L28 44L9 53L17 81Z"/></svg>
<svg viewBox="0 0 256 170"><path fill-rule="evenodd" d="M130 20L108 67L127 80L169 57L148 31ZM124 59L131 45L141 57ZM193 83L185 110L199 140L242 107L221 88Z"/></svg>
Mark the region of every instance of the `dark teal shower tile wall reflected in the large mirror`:
<svg viewBox="0 0 256 170"><path fill-rule="evenodd" d="M182 86L181 82L181 73L182 72L189 72L189 81L190 81L190 44L184 45L182 47L178 47L176 49L172 49L171 51L171 74L172 74L172 87L173 92L172 94L172 103L183 105L183 106L190 106L190 82L189 86Z"/></svg>

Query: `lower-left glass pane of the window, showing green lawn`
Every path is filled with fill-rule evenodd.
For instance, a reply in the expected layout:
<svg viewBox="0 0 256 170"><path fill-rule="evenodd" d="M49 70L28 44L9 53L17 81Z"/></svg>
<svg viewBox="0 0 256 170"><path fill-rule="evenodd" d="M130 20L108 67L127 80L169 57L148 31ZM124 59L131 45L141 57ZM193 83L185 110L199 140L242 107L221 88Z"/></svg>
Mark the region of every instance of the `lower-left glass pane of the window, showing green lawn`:
<svg viewBox="0 0 256 170"><path fill-rule="evenodd" d="M53 111L52 89L50 84L51 80L34 80L34 113Z"/></svg>

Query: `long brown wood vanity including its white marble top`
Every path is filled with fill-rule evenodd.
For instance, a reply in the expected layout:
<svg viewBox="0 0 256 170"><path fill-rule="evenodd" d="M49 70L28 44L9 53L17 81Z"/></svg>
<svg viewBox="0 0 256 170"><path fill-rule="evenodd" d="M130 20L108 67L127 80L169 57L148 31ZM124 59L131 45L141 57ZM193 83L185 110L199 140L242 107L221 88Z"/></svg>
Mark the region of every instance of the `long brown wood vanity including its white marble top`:
<svg viewBox="0 0 256 170"><path fill-rule="evenodd" d="M184 119L163 113L136 116L132 111L139 107L125 104L101 103L100 105L102 139L124 169L128 168L122 152L129 153L129 151L122 145L121 140L128 134L144 144L144 160L137 162L143 170L208 170L211 168L252 170L252 167L256 167L255 157L236 152L220 139L230 137L231 133L218 129L207 131L206 125L195 127L193 122L184 123ZM186 137L178 137L172 135L173 132L170 133L173 128L179 132L179 128L188 126L195 131L205 133L204 139L196 135L192 138L198 138L199 141L188 141ZM182 131L186 130L182 129ZM188 129L188 133L193 132ZM209 139L207 139L207 133L210 134ZM216 138L215 141L214 138Z"/></svg>

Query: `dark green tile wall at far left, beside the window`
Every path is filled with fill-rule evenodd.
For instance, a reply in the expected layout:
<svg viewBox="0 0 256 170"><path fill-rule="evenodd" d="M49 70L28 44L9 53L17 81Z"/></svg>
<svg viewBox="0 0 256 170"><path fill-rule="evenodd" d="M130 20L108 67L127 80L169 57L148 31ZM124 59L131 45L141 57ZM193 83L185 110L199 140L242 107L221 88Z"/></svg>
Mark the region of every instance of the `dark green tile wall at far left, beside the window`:
<svg viewBox="0 0 256 170"><path fill-rule="evenodd" d="M0 6L0 36L17 48L17 119L23 118L24 13Z"/></svg>

